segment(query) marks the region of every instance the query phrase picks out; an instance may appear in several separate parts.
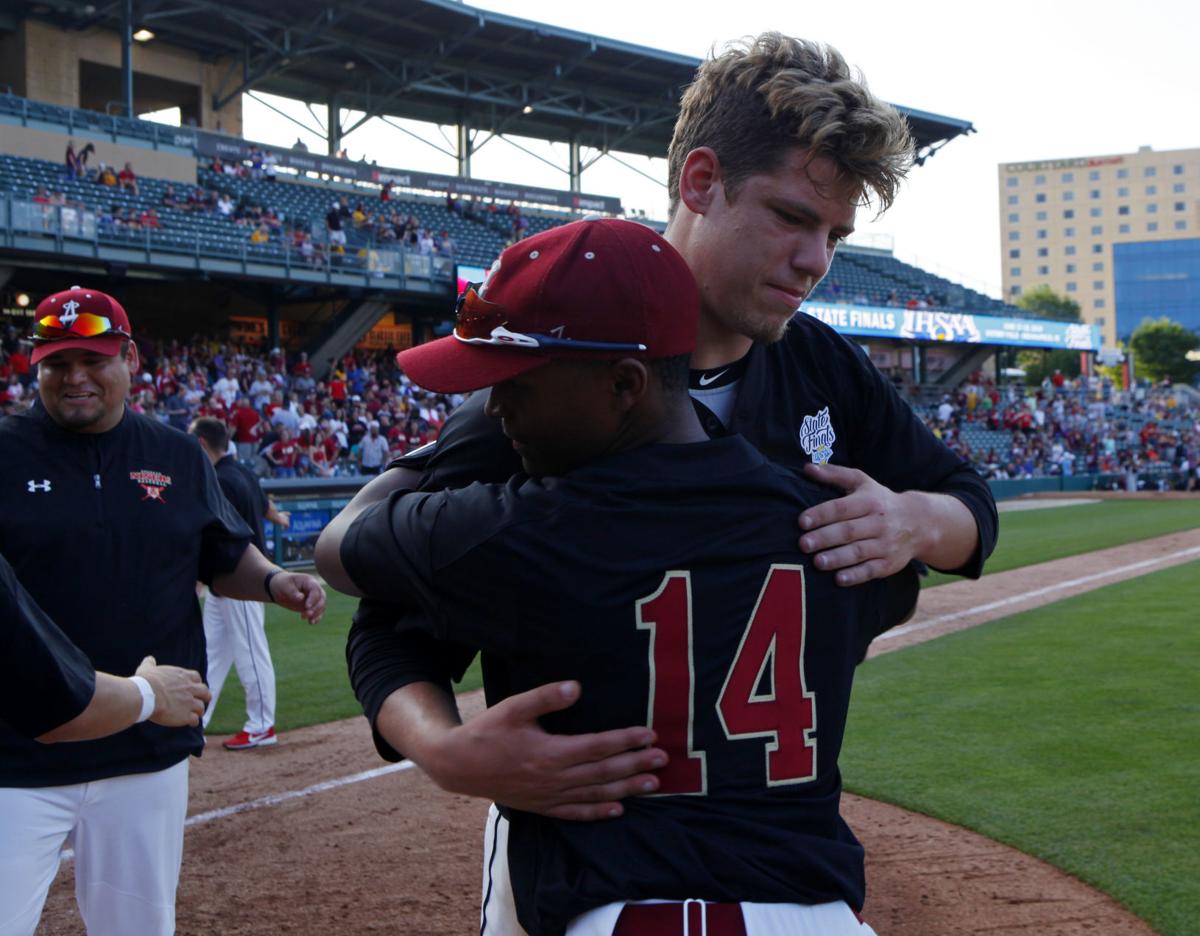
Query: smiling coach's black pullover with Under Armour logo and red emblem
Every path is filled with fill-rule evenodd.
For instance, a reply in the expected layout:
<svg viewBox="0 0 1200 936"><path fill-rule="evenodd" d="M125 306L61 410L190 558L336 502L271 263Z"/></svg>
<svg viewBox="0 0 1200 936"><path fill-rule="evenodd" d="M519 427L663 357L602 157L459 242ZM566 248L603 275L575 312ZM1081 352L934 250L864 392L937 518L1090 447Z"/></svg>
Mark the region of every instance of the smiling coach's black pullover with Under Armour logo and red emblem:
<svg viewBox="0 0 1200 936"><path fill-rule="evenodd" d="M0 419L0 552L92 666L130 674L151 654L205 672L196 581L233 571L251 532L199 443L131 410L108 432L71 432L38 401ZM0 786L161 770L203 740L151 722L70 745L0 730Z"/></svg>

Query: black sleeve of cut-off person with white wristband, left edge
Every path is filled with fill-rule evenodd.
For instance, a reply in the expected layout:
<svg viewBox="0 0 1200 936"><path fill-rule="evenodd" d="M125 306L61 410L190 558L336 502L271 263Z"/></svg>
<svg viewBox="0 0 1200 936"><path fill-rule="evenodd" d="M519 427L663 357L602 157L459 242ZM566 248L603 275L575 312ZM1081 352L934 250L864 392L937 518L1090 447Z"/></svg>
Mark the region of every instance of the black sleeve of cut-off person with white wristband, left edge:
<svg viewBox="0 0 1200 936"><path fill-rule="evenodd" d="M96 671L0 556L0 725L36 738L88 708Z"/></svg>

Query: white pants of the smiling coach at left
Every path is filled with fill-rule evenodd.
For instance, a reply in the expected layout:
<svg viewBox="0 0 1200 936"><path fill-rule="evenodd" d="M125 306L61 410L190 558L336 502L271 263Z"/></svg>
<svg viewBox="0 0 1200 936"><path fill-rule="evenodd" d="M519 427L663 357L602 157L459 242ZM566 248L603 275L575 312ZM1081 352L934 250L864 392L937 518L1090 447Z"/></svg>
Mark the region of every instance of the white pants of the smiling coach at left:
<svg viewBox="0 0 1200 936"><path fill-rule="evenodd" d="M32 935L67 846L88 936L170 936L187 769L0 787L0 936Z"/></svg>

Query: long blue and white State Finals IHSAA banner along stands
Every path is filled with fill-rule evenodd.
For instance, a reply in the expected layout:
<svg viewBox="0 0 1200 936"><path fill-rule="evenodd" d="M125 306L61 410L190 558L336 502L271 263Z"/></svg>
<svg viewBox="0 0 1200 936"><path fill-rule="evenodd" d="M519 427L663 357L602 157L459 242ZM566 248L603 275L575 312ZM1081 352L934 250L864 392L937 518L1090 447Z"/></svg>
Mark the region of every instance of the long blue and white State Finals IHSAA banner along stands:
<svg viewBox="0 0 1200 936"><path fill-rule="evenodd" d="M1009 344L1021 348L1067 348L1096 352L1100 330L1078 322L1004 318L930 308L888 308L805 302L800 311L844 335L964 344Z"/></svg>

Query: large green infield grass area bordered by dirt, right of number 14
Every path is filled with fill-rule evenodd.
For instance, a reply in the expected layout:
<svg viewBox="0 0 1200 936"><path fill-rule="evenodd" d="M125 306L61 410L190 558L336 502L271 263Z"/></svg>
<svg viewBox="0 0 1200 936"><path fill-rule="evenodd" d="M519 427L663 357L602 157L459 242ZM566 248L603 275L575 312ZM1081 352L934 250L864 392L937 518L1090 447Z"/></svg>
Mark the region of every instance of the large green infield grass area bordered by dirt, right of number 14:
<svg viewBox="0 0 1200 936"><path fill-rule="evenodd" d="M1188 563L868 661L847 788L1200 931L1198 608Z"/></svg>

